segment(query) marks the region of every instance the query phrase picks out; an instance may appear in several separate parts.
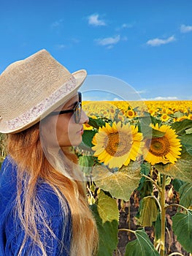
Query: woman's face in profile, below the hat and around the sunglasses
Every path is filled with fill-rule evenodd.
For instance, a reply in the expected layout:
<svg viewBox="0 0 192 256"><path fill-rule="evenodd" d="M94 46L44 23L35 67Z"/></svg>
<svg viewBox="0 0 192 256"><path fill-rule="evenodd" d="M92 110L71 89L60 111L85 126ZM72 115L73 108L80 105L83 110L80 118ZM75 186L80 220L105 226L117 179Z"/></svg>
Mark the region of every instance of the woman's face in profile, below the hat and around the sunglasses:
<svg viewBox="0 0 192 256"><path fill-rule="evenodd" d="M79 96L75 94L66 102L63 108L58 108L55 111L72 110L78 102ZM88 123L88 116L86 116L83 110L78 124L74 121L73 113L48 116L46 119L46 137L49 145L51 144L53 147L78 146L82 142L82 124Z"/></svg>

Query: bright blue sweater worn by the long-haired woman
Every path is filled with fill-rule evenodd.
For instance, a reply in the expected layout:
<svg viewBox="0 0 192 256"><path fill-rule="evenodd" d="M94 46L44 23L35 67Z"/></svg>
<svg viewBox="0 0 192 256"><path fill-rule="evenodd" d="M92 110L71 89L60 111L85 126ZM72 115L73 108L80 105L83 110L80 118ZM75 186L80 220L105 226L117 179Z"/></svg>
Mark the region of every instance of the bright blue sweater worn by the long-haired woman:
<svg viewBox="0 0 192 256"><path fill-rule="evenodd" d="M0 172L0 255L1 256L18 256L20 246L25 235L23 227L20 225L20 219L14 211L15 198L17 193L17 165L7 157L1 167ZM42 223L37 223L39 238L46 248L48 256L69 256L72 218L68 206L68 214L61 214L61 207L58 197L53 189L43 181L39 181L36 189L37 197L41 200L41 207L45 208L46 221L52 228L55 236L50 236L47 229L42 231ZM65 233L63 235L63 227L65 225ZM61 243L63 247L61 249ZM22 256L42 255L41 249L31 241L26 241L25 249Z"/></svg>

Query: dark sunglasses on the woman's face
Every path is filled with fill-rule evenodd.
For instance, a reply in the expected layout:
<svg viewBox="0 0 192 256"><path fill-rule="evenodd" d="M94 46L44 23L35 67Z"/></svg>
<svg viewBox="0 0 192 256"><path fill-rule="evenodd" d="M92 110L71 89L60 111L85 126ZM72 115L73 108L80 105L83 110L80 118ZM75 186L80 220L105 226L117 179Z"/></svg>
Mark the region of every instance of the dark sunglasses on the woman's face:
<svg viewBox="0 0 192 256"><path fill-rule="evenodd" d="M82 97L80 92L78 92L78 96L79 96L79 102L77 103L77 105L75 105L73 109L53 111L52 113L49 114L49 116L57 116L57 115L63 115L66 113L73 113L75 123L79 124L81 113L82 113Z"/></svg>

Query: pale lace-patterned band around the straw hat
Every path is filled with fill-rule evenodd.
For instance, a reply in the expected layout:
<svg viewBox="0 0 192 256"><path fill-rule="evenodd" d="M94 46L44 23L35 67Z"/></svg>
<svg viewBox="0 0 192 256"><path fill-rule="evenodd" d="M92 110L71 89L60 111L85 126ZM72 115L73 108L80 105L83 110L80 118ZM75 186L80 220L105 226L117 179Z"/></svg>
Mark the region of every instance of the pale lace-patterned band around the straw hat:
<svg viewBox="0 0 192 256"><path fill-rule="evenodd" d="M64 83L64 85L62 85L58 90L50 94L50 97L43 99L42 102L39 102L39 104L35 105L33 108L30 108L22 115L6 121L9 129L18 129L19 127L26 126L27 124L35 121L56 102L59 102L61 99L63 99L66 94L75 88L75 86L76 80L72 76L67 83Z"/></svg>

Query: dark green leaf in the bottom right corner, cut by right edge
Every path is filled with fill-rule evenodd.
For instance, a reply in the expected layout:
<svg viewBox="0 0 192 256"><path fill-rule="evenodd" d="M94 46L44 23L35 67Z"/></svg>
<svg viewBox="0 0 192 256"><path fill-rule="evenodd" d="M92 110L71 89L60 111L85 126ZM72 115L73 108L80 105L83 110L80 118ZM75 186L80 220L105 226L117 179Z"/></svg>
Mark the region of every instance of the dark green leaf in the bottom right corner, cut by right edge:
<svg viewBox="0 0 192 256"><path fill-rule="evenodd" d="M192 211L188 210L186 214L177 213L172 217L172 228L177 236L177 241L187 252L192 253Z"/></svg>

